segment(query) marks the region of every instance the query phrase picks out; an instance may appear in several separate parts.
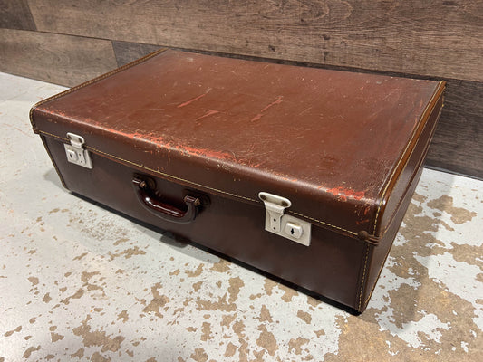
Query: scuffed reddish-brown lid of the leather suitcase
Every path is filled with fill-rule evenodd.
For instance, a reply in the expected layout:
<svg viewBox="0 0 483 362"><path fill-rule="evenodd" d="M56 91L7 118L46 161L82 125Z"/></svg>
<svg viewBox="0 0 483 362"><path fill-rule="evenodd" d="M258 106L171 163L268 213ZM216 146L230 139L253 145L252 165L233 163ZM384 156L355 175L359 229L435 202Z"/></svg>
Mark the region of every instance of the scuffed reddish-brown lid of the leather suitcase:
<svg viewBox="0 0 483 362"><path fill-rule="evenodd" d="M207 193L260 207L259 192L283 196L285 212L377 243L443 88L167 50L39 102L31 120L45 137L75 133L95 154Z"/></svg>

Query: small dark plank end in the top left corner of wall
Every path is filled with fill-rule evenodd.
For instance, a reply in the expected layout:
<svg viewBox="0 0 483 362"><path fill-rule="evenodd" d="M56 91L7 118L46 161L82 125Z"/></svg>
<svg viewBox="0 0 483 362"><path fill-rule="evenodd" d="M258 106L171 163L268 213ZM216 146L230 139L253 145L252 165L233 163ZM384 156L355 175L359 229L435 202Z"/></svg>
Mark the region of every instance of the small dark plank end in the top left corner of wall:
<svg viewBox="0 0 483 362"><path fill-rule="evenodd" d="M35 30L27 0L0 0L0 28Z"/></svg>

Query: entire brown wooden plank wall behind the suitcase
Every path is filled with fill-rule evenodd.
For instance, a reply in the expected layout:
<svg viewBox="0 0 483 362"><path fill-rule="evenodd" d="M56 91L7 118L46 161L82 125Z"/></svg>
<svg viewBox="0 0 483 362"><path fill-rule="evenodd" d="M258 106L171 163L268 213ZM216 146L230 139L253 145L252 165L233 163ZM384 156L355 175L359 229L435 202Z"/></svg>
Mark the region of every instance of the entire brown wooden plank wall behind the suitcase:
<svg viewBox="0 0 483 362"><path fill-rule="evenodd" d="M0 0L0 71L72 86L161 46L447 80L427 165L483 178L479 0Z"/></svg>

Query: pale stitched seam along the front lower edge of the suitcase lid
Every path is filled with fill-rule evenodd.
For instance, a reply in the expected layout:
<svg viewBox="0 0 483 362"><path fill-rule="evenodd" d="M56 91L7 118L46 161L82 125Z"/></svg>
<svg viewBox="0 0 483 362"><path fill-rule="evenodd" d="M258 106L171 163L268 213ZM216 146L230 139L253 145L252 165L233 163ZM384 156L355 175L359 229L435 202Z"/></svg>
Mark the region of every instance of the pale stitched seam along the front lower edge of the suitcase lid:
<svg viewBox="0 0 483 362"><path fill-rule="evenodd" d="M67 141L69 142L69 139L68 138L63 138L63 137L60 137L60 136L57 136L57 135L54 135L52 133L49 133L49 132L45 132L43 130L39 130L39 133L42 133L42 134L45 134L45 135L48 135L48 136L51 136L53 138L59 138L59 139L62 139L63 141ZM97 148L92 148L91 146L86 146L86 148L92 150L93 152L95 153L99 153L101 155L105 155L107 157L111 157L111 158L114 158L114 159L118 159L122 162L125 162L125 163L128 163L130 165L133 165L133 166L136 166L136 167L140 167L140 168L144 168L144 169L147 169L149 170L150 172L153 172L155 174L158 174L158 175L161 175L161 176L165 176L165 177L168 177L168 178L171 178L171 179L174 179L174 180L179 180L179 181L183 181L185 183L188 183L190 185L193 185L193 186L199 186L199 187L203 187L203 188L206 188L208 190L213 190L213 191L216 191L217 193L220 193L220 194L225 194L225 195L230 195L230 196L234 196L234 197L237 197L237 198L242 198L242 199L245 199L245 200L248 200L248 201L253 201L253 202L256 202L256 203L260 203L260 201L256 200L256 199L253 199L251 197L246 197L246 196L242 196L242 195L237 195L237 194L232 194L232 193L229 193L227 191L223 191L223 190L220 190L220 189L217 189L215 187L210 187L210 186L205 186L205 185L202 185L202 184L198 184L196 182L193 182L193 181L189 181L185 178L181 178L181 177L178 177L178 176L172 176L172 175L169 175L169 174L166 174L164 172L161 172L161 171L158 171L158 170L155 170L153 168L150 168L150 167L146 167L146 166L143 166L143 165L140 165L140 164L137 164L135 162L132 162L130 160L127 160L127 159L124 159L124 158L121 158L121 157L117 157L117 156L114 156L114 155L111 155L110 153L107 153L107 152L104 152L104 151L101 151L100 149L97 149ZM309 219L309 220L312 220L316 223L319 223L319 224L324 224L326 226L330 226L330 227L333 227L334 229L337 229L337 230L340 230L340 231L343 231L345 233L350 233L354 236L357 236L357 233L354 233L350 230L347 230L347 229L344 229L343 227L340 227L340 226L336 226L336 225L333 225L333 224L329 224L329 223L325 223L324 221L322 220L318 220L318 219L315 219L314 217L310 217L310 216L307 216L307 215L304 215L304 214L300 214L300 213L296 213L295 211L291 211L291 210L288 210L288 213L290 214L296 214L296 215L299 215L299 216L302 216L306 219Z"/></svg>

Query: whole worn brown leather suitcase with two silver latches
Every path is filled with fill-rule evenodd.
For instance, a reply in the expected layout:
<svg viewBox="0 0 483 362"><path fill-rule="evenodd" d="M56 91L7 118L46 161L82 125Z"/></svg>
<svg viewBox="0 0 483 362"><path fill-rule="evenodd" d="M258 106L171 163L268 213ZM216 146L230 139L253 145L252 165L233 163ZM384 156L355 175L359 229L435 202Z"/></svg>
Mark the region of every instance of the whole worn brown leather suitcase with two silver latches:
<svg viewBox="0 0 483 362"><path fill-rule="evenodd" d="M444 82L160 51L31 110L63 185L361 312Z"/></svg>

